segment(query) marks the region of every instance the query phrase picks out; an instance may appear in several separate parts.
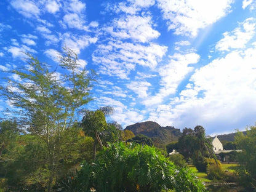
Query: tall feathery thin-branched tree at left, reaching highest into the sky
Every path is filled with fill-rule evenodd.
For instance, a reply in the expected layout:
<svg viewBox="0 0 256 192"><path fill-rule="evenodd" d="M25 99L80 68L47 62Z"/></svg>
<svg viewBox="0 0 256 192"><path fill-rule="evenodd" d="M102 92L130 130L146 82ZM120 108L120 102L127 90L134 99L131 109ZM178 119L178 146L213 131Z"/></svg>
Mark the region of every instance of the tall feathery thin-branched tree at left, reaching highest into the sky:
<svg viewBox="0 0 256 192"><path fill-rule="evenodd" d="M66 47L63 50L55 68L26 54L28 65L10 71L19 78L7 78L7 85L0 86L0 95L16 107L9 118L44 143L49 172L47 191L52 191L61 171L57 167L62 159L62 144L76 122L76 111L92 100L89 92L94 72L80 67L73 50Z"/></svg>

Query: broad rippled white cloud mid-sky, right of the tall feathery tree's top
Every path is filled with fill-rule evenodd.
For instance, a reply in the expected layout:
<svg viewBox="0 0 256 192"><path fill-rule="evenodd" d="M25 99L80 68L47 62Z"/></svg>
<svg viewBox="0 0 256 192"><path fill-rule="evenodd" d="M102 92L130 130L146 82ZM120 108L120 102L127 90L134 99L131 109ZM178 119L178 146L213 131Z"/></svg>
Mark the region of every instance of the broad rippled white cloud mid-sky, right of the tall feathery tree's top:
<svg viewBox="0 0 256 192"><path fill-rule="evenodd" d="M167 51L167 47L151 43L149 46L121 41L109 41L98 46L92 57L100 66L100 73L128 79L136 65L154 69Z"/></svg>

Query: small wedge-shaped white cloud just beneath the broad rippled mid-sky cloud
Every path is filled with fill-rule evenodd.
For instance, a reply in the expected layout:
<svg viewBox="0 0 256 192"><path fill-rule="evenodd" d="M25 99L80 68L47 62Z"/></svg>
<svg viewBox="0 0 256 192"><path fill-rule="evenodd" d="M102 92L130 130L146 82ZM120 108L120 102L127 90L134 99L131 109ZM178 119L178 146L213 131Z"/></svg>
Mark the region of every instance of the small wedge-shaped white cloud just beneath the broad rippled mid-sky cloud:
<svg viewBox="0 0 256 192"><path fill-rule="evenodd" d="M151 84L146 81L132 81L126 87L134 91L138 95L138 98L146 98L148 97L147 90L150 86Z"/></svg>

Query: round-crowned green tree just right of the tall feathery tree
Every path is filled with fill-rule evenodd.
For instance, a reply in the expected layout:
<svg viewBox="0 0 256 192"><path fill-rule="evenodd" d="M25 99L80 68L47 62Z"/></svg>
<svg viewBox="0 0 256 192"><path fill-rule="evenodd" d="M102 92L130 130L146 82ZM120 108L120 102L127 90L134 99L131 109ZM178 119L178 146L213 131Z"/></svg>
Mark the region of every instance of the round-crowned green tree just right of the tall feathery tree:
<svg viewBox="0 0 256 192"><path fill-rule="evenodd" d="M84 110L84 117L82 118L81 126L84 132L90 137L94 138L94 159L96 158L97 143L103 148L103 143L100 134L107 129L105 114L113 113L111 106L102 107L96 111Z"/></svg>

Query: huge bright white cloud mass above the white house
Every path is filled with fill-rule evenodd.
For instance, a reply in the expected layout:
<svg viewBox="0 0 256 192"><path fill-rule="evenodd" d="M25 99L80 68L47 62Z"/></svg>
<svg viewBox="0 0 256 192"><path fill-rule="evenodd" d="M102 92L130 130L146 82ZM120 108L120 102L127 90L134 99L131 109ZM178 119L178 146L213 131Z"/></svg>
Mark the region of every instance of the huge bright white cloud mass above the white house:
<svg viewBox="0 0 256 192"><path fill-rule="evenodd" d="M233 51L196 70L190 79L194 86L190 84L170 102L173 107L169 121L178 128L201 124L208 132L254 124L255 60L256 49Z"/></svg>

